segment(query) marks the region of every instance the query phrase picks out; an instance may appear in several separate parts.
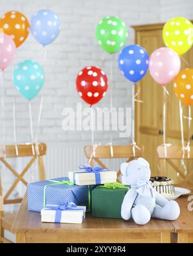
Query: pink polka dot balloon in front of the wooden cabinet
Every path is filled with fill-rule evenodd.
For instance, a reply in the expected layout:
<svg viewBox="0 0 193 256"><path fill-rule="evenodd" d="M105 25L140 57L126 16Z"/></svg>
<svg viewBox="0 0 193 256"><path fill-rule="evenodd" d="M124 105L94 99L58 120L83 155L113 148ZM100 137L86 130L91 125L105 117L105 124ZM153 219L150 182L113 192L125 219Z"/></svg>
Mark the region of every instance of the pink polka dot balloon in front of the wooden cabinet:
<svg viewBox="0 0 193 256"><path fill-rule="evenodd" d="M159 84L170 83L178 75L180 66L178 54L167 47L158 48L149 59L149 72Z"/></svg>

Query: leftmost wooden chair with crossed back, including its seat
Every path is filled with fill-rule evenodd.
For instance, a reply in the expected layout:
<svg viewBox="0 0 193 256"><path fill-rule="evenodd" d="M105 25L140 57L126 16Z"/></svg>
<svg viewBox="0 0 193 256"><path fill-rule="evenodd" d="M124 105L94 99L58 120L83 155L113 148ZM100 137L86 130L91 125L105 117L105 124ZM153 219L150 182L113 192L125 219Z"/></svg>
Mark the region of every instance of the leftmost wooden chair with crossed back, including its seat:
<svg viewBox="0 0 193 256"><path fill-rule="evenodd" d="M0 145L0 161L5 164L6 168L12 172L16 179L8 192L3 196L3 204L15 204L22 201L21 198L18 199L9 199L11 193L15 190L15 187L21 181L25 186L27 186L28 182L24 179L25 173L29 170L32 166L33 162L38 158L39 164L39 179L44 180L45 172L44 172L44 159L43 155L46 155L46 144L37 144L37 150L33 153L32 147L35 148L35 144L21 144L17 145L18 153L16 153L15 145ZM6 158L9 157L32 157L24 170L21 173L18 173L7 161ZM3 192L3 184L1 182L1 175L0 175L0 195ZM4 237L4 231L8 230L12 232L12 223L15 219L14 214L6 214L4 212L0 212L0 242L11 242Z"/></svg>

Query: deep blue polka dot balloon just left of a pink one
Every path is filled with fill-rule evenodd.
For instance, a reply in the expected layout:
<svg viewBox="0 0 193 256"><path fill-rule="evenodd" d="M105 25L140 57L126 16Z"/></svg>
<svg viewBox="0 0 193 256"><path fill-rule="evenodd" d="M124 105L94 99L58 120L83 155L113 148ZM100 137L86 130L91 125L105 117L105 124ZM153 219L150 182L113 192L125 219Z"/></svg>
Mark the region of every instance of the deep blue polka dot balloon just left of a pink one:
<svg viewBox="0 0 193 256"><path fill-rule="evenodd" d="M147 73L149 56L142 46L131 44L120 52L118 67L127 79L136 83Z"/></svg>

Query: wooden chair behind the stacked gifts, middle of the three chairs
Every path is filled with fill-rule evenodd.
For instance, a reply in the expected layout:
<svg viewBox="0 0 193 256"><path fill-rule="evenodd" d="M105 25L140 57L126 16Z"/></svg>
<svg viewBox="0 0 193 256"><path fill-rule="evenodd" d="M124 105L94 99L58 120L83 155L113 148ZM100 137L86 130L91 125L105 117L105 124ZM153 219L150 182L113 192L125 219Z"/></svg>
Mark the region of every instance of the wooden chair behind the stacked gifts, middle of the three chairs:
<svg viewBox="0 0 193 256"><path fill-rule="evenodd" d="M111 157L111 146L96 146L87 145L84 146L84 153L88 159L88 164L94 166L94 161L97 162L102 168L108 169L107 166L100 159L114 159L114 158L125 158L125 162L142 157L143 146L135 148L135 155L133 152L132 145L112 146L113 157ZM120 169L118 170L117 177L120 175Z"/></svg>

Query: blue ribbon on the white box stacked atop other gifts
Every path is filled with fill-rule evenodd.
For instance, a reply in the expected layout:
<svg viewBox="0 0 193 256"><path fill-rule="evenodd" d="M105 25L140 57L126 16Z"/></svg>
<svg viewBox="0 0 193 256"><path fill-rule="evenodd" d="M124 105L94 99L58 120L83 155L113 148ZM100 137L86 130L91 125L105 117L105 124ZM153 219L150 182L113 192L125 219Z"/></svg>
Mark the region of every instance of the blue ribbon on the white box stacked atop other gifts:
<svg viewBox="0 0 193 256"><path fill-rule="evenodd" d="M86 165L80 165L79 166L80 170L85 170L84 172L74 172L73 173L73 182L74 184L76 184L75 182L75 174L76 173L86 173L86 172L93 172L95 173L95 184L101 184L101 180L100 180L100 172L106 172L107 170L100 167L100 166L96 166L96 167L91 167L89 164Z"/></svg>

